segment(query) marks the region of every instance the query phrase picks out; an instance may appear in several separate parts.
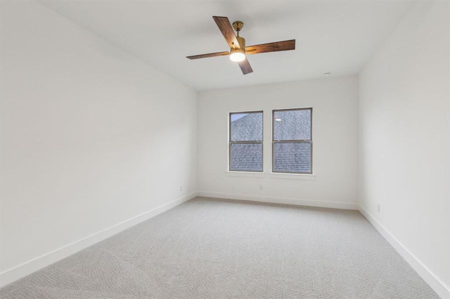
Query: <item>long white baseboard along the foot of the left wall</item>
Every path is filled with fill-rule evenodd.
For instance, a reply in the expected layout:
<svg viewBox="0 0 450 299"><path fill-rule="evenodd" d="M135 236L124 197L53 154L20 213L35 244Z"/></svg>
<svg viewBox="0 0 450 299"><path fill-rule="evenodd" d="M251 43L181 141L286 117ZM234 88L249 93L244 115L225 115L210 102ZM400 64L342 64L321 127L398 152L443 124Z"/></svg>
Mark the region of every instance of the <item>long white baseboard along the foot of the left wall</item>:
<svg viewBox="0 0 450 299"><path fill-rule="evenodd" d="M162 212L165 212L165 211L167 211L185 201L188 201L189 199L194 198L196 196L197 196L196 192L188 194L179 199L176 199L174 201L171 201L169 203L166 203L159 207L156 207L152 210L149 210L147 212L144 212L142 214L134 216L133 218L130 218L128 220L117 223L111 227L108 227L102 231L99 231L95 234L87 236L83 239L80 239L73 243L67 244L63 247L60 247L53 251L50 251L46 254L36 257L36 258L34 258L30 261L27 261L23 264L20 264L13 268L7 269L0 273L0 287L3 287L9 283L12 283L13 281L15 281L19 278L22 278L22 277L24 277L28 274L31 274L39 269L42 269L50 264L53 264L54 262L57 262L65 257L68 257L69 255L72 255L72 254L74 254L86 247L89 247L95 243L98 243L108 237L111 237L111 236L113 236L129 227L132 227L142 221L150 219L158 214L161 214Z"/></svg>

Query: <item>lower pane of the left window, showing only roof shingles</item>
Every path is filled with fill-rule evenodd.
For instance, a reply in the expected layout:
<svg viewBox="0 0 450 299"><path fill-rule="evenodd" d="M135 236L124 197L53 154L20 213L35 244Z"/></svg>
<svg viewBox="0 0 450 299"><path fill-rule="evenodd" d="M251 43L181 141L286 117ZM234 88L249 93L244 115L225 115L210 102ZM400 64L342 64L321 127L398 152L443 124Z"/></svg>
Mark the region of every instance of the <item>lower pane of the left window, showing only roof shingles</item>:
<svg viewBox="0 0 450 299"><path fill-rule="evenodd" d="M263 145L231 144L230 170L263 171Z"/></svg>

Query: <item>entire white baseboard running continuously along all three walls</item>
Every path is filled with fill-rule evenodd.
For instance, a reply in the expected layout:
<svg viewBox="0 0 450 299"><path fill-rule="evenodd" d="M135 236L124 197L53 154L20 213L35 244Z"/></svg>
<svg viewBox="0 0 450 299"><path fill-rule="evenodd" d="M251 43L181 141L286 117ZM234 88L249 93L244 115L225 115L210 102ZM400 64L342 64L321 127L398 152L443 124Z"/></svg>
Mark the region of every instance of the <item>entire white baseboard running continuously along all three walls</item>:
<svg viewBox="0 0 450 299"><path fill-rule="evenodd" d="M51 252L36 257L30 261L20 264L16 267L7 269L0 273L0 287L3 287L19 278L31 274L42 269L54 262L57 262L69 255L72 255L86 247L98 243L110 236L113 236L129 227L132 227L142 221L150 219L162 212L165 212L189 199L196 196L250 200L258 202L305 205L314 207L327 207L338 209L359 210L367 220L380 232L380 234L397 250L397 252L413 267L413 269L430 285L433 290L443 299L450 299L450 288L441 281L433 272L431 272L419 259L417 259L402 243L400 243L386 228L383 227L374 217L372 217L363 207L351 202L333 202L333 201L317 201L284 197L269 197L244 194L230 194L218 192L194 192L183 196L179 199L161 205L150 211L139 214L133 218L117 223L109 228L99 231L95 234L87 236L83 239L55 249Z"/></svg>

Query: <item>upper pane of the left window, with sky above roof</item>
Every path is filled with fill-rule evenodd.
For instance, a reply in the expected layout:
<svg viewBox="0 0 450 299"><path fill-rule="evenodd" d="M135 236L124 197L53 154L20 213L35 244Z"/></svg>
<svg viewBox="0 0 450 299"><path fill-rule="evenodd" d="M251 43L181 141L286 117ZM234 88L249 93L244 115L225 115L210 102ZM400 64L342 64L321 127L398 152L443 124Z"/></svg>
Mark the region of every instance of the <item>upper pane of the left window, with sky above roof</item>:
<svg viewBox="0 0 450 299"><path fill-rule="evenodd" d="M232 113L230 141L263 140L263 113Z"/></svg>

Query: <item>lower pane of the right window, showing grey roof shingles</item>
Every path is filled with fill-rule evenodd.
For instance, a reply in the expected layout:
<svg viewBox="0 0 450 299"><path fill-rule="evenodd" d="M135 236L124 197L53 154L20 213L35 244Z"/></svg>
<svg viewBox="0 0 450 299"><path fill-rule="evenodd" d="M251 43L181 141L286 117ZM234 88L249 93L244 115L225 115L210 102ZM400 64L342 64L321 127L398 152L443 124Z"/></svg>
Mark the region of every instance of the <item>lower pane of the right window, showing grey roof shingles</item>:
<svg viewBox="0 0 450 299"><path fill-rule="evenodd" d="M274 171L311 172L310 143L275 143Z"/></svg>

